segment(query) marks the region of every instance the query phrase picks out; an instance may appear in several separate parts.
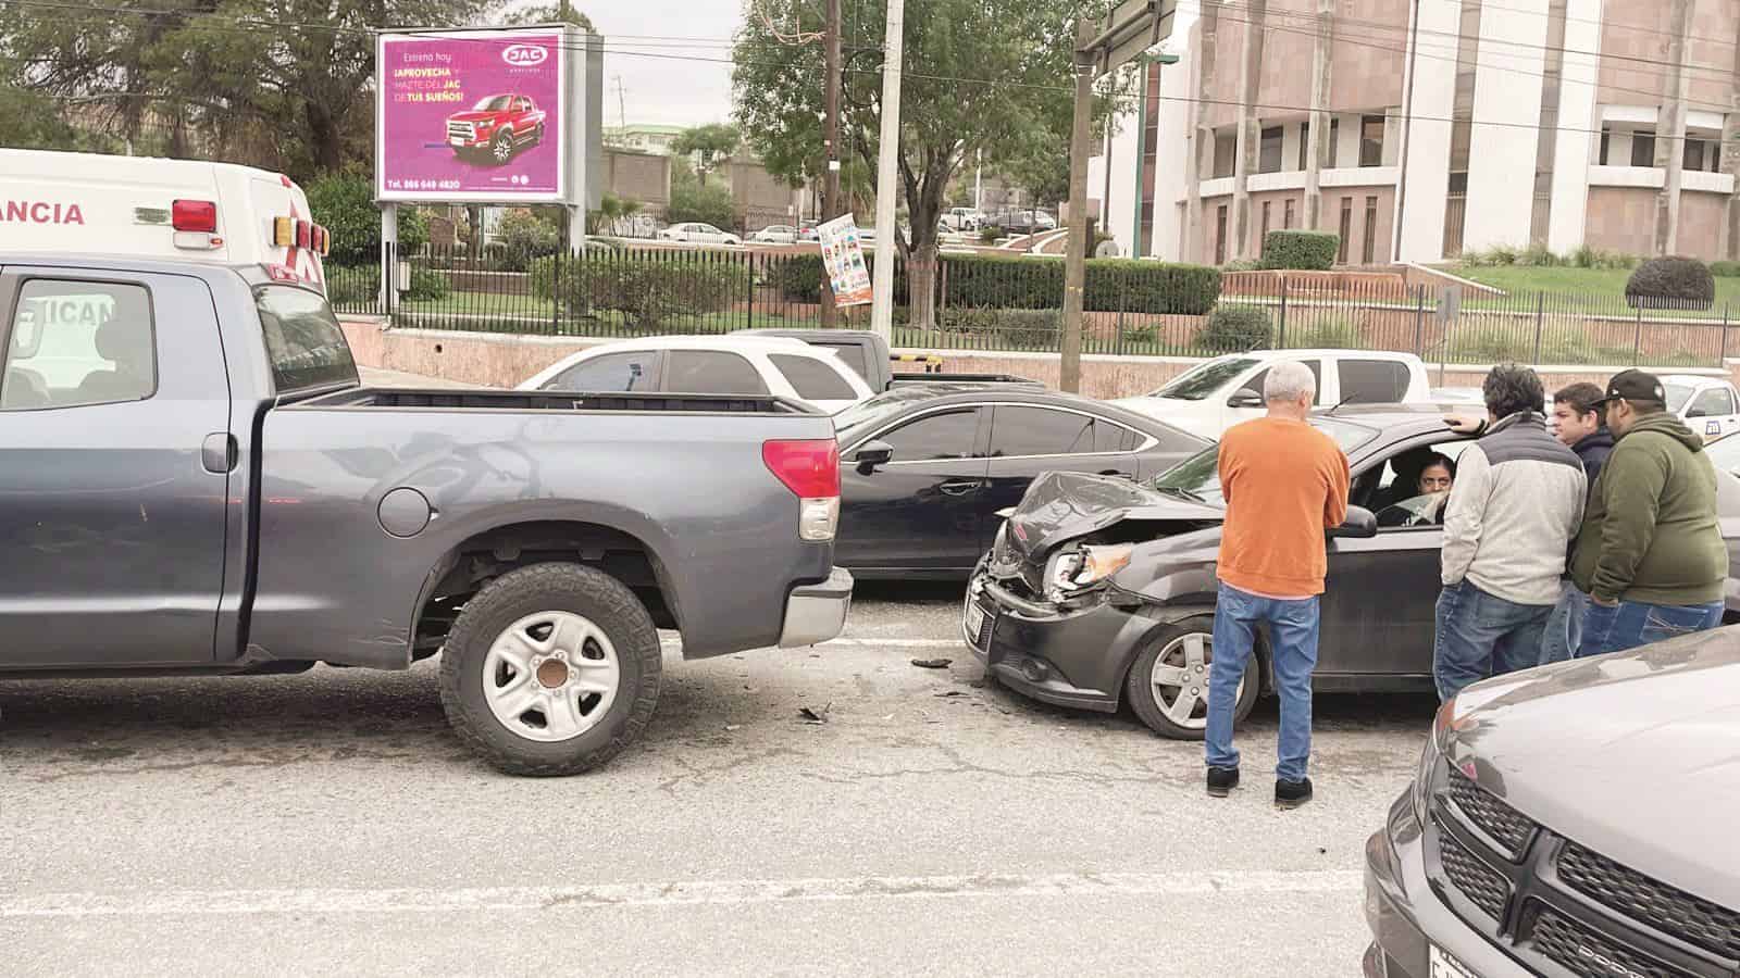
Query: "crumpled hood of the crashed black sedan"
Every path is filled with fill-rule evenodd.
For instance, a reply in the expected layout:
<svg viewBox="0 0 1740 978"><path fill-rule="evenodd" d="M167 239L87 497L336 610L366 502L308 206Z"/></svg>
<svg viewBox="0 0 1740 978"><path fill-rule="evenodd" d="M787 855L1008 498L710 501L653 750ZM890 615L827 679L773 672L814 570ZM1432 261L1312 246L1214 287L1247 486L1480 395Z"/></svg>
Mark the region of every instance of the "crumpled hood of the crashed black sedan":
<svg viewBox="0 0 1740 978"><path fill-rule="evenodd" d="M1044 562L1060 543L1126 520L1221 520L1216 506L1166 496L1112 475L1047 472L1027 487L1009 517L1007 543L1028 562Z"/></svg>

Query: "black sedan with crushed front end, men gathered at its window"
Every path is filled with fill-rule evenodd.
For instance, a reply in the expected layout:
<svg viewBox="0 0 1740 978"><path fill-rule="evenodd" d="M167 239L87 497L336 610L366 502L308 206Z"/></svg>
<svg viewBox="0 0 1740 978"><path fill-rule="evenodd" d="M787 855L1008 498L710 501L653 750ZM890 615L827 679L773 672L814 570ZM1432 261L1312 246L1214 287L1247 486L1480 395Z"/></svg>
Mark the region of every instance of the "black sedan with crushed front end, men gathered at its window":
<svg viewBox="0 0 1740 978"><path fill-rule="evenodd" d="M1456 456L1469 439L1434 409L1342 409L1312 423L1342 445L1354 475L1347 522L1329 539L1314 687L1429 691L1442 498L1397 473L1418 473L1423 452ZM1717 473L1717 482L1735 567L1740 480ZM1128 700L1157 733L1197 740L1223 517L1213 449L1147 484L1047 475L967 585L966 640L997 679L1035 700L1103 712ZM1733 616L1733 571L1728 588ZM1256 661L1239 719L1272 687L1262 646Z"/></svg>

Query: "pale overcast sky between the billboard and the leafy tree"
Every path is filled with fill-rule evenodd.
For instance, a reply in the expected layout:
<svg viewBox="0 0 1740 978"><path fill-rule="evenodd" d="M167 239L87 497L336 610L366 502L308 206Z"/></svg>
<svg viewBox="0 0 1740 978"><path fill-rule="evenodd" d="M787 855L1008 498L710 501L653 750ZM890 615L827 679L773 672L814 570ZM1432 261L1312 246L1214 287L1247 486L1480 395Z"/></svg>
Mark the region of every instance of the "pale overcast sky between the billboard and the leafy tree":
<svg viewBox="0 0 1740 978"><path fill-rule="evenodd" d="M741 0L576 0L604 35L604 125L701 125L731 117ZM618 101L616 80L623 97Z"/></svg>

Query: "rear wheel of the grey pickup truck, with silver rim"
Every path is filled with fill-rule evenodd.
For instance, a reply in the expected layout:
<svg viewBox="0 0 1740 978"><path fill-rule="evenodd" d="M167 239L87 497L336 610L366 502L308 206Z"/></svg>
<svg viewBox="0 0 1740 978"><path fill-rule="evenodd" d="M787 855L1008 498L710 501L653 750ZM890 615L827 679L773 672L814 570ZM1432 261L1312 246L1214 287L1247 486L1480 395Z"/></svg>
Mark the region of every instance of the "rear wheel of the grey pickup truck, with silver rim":
<svg viewBox="0 0 1740 978"><path fill-rule="evenodd" d="M661 675L658 630L633 592L590 567L536 564L459 611L440 700L459 740L496 769L578 774L640 736Z"/></svg>

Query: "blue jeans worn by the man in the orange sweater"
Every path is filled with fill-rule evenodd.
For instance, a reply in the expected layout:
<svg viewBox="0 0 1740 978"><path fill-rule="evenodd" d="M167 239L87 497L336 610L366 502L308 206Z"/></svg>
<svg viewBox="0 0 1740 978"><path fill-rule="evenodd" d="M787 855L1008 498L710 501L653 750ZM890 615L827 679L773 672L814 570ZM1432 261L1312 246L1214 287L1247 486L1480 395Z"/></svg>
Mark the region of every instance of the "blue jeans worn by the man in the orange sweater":
<svg viewBox="0 0 1740 978"><path fill-rule="evenodd" d="M1268 623L1268 658L1281 693L1281 741L1275 778L1300 781L1310 760L1310 673L1317 668L1317 599L1256 597L1220 585L1215 604L1215 649L1208 673L1209 767L1237 767L1232 713L1239 707L1239 680L1251 665L1256 625ZM1251 677L1256 682L1258 677Z"/></svg>

